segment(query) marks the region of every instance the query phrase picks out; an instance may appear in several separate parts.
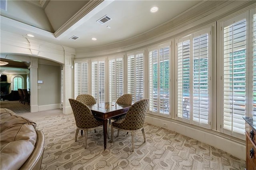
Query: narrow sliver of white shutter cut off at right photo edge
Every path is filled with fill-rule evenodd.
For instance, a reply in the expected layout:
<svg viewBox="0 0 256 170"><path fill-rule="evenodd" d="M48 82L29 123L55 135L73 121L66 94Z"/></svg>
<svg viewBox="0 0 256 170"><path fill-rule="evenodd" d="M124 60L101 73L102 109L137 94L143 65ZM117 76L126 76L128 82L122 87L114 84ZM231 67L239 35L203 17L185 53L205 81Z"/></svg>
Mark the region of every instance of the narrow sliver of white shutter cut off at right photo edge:
<svg viewBox="0 0 256 170"><path fill-rule="evenodd" d="M253 15L253 115L256 116L256 14Z"/></svg>

